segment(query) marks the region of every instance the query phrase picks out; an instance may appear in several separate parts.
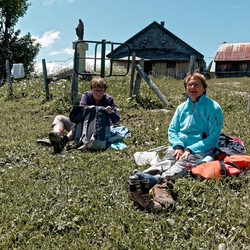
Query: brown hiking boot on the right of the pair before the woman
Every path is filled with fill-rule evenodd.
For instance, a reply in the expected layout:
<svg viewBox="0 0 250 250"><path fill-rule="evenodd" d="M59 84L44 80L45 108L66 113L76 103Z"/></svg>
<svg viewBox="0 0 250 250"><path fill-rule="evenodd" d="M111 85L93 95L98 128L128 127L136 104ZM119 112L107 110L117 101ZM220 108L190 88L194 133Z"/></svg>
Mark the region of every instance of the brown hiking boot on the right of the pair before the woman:
<svg viewBox="0 0 250 250"><path fill-rule="evenodd" d="M172 197L173 184L169 181L164 181L156 184L151 190L150 194L153 196L154 201L161 205L173 205L175 200Z"/></svg>

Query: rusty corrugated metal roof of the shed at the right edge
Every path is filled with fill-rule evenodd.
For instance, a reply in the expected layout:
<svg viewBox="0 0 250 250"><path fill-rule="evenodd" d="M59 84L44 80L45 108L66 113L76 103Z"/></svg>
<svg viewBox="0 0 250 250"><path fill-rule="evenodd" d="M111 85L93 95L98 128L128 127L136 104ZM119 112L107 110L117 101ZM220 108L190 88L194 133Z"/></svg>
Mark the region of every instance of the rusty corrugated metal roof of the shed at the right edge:
<svg viewBox="0 0 250 250"><path fill-rule="evenodd" d="M250 60L250 42L221 43L214 61L247 61Z"/></svg>

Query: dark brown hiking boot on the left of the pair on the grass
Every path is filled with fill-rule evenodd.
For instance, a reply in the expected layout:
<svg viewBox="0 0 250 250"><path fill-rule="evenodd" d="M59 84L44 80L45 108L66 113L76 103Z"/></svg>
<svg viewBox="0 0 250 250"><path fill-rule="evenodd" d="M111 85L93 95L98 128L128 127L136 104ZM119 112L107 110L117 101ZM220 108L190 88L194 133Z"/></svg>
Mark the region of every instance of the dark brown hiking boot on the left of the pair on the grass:
<svg viewBox="0 0 250 250"><path fill-rule="evenodd" d="M145 210L161 210L161 204L154 201L152 197L150 197L149 189L150 185L148 180L130 181L128 196Z"/></svg>

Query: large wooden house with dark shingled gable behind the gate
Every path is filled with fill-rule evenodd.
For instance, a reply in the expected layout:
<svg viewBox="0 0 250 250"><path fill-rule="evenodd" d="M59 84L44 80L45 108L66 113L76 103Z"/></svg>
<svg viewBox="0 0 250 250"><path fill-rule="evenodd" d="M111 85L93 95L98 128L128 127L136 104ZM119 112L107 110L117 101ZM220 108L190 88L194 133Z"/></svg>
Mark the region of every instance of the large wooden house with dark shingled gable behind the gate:
<svg viewBox="0 0 250 250"><path fill-rule="evenodd" d="M189 72L191 56L196 59L195 70L198 71L204 57L164 28L164 22L152 22L125 43L130 47L130 56L136 54L137 62L144 59L145 73L156 77L184 78ZM112 55L114 63L125 67L128 58L126 53L125 46L117 47ZM111 53L107 57L110 58Z"/></svg>

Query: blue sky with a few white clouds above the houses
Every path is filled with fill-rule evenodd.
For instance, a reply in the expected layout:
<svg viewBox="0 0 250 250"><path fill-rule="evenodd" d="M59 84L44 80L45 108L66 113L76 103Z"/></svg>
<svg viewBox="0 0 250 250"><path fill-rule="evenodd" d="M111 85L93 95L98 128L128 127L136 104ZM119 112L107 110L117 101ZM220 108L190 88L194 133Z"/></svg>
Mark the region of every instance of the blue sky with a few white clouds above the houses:
<svg viewBox="0 0 250 250"><path fill-rule="evenodd" d="M124 43L152 22L164 27L204 55L207 65L220 43L250 42L250 0L30 0L15 29L41 43L35 58L41 69L72 67L72 43L78 20L84 40Z"/></svg>

